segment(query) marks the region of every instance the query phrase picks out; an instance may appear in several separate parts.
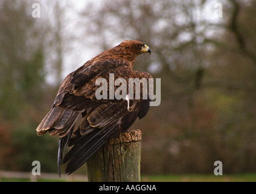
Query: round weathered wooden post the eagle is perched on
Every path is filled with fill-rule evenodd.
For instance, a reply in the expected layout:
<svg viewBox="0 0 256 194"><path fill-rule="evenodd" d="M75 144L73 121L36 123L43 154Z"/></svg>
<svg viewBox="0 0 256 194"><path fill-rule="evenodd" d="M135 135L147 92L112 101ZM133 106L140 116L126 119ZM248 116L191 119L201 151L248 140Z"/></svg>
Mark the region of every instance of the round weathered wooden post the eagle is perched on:
<svg viewBox="0 0 256 194"><path fill-rule="evenodd" d="M87 161L89 182L140 181L141 131L121 133Z"/></svg>

